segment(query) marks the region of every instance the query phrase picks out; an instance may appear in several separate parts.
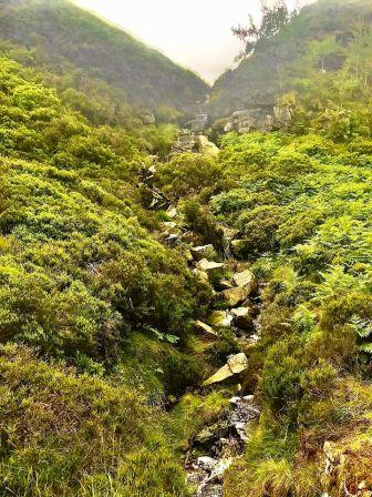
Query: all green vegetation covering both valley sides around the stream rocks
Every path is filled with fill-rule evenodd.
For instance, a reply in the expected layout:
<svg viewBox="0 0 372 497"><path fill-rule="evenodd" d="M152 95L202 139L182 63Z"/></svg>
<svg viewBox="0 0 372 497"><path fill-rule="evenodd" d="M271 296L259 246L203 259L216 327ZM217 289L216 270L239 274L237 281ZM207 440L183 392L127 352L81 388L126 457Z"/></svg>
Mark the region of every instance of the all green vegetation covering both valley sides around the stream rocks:
<svg viewBox="0 0 372 497"><path fill-rule="evenodd" d="M276 40L291 52L272 95L294 109L290 126L226 134L211 159L169 155L184 103L151 94L164 124L144 125L89 60L91 78L73 37L59 51L69 12L87 45L120 51L123 33L65 2L2 8L0 26L24 16L27 29L2 31L0 59L0 495L190 495L183 456L237 392L196 389L240 351L232 329L215 342L194 333L227 304L192 271L192 242L213 244L216 261L234 248L216 286L240 263L262 283L241 378L261 414L225 495L370 496L371 9L322 0L286 26ZM55 45L41 12L45 27L60 18ZM264 49L234 75L241 84ZM148 207L154 193L164 210ZM183 236L172 247L173 224Z"/></svg>

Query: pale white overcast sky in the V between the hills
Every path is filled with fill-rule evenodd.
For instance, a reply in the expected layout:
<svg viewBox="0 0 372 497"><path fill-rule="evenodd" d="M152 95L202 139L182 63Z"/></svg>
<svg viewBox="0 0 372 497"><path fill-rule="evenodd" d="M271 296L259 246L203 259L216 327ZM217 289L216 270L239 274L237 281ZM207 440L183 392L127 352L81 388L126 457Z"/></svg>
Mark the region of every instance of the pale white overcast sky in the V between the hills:
<svg viewBox="0 0 372 497"><path fill-rule="evenodd" d="M123 27L213 82L234 63L241 43L230 31L259 0L74 0ZM294 4L296 0L288 3Z"/></svg>

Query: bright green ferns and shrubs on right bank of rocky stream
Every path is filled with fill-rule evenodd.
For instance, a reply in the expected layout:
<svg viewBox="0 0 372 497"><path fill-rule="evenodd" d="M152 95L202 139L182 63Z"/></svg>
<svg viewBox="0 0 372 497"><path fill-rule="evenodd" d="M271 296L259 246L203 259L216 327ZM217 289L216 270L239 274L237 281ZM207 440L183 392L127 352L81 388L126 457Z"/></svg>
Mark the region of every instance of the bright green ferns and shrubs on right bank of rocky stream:
<svg viewBox="0 0 372 497"><path fill-rule="evenodd" d="M333 479L322 478L324 444L348 454L372 420L368 143L281 133L223 139L224 174L236 183L210 210L239 230L237 256L267 282L247 376L261 419L229 471L227 496L341 496L344 479L370 489L368 435L349 463L334 457Z"/></svg>

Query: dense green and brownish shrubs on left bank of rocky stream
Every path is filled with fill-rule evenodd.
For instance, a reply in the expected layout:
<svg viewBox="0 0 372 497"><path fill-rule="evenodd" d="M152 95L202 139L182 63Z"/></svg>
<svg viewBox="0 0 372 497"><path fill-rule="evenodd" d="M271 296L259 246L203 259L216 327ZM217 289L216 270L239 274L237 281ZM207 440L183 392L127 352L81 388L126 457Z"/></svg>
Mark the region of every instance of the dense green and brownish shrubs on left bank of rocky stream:
<svg viewBox="0 0 372 497"><path fill-rule="evenodd" d="M174 129L93 125L48 74L0 72L0 493L187 496L164 413L203 376L211 292L138 187Z"/></svg>

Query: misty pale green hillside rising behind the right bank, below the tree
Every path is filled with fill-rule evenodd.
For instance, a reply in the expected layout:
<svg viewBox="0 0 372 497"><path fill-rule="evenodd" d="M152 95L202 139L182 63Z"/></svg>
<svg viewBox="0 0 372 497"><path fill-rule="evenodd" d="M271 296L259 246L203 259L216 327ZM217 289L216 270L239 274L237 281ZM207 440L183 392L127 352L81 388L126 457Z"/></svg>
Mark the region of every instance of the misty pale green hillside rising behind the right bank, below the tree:
<svg viewBox="0 0 372 497"><path fill-rule="evenodd" d="M352 88L358 92L349 75L351 70L356 79L370 79L370 26L369 0L318 0L303 8L277 36L264 31L254 53L216 81L213 113L228 116L237 109L276 105L285 93L291 102L293 91L306 94L309 90L309 71L317 73L320 84L310 87L312 105L322 95L323 84L333 84L341 99Z"/></svg>

